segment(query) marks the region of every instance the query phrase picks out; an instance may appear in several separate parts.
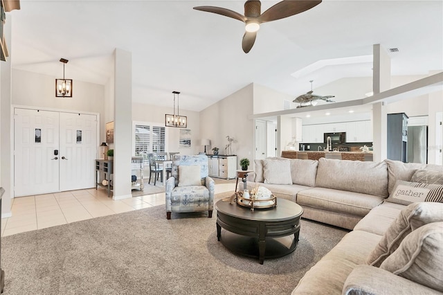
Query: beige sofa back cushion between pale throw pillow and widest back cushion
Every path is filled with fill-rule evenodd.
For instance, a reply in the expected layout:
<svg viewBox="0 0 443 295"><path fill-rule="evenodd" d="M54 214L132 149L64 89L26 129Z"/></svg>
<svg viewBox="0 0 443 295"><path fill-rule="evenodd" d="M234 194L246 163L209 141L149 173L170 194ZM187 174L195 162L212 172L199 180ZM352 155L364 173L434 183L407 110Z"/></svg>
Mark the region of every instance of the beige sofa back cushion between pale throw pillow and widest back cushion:
<svg viewBox="0 0 443 295"><path fill-rule="evenodd" d="M318 161L290 159L291 179L293 184L300 186L315 186Z"/></svg>

